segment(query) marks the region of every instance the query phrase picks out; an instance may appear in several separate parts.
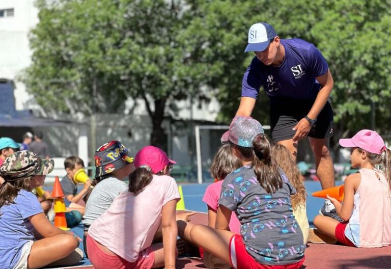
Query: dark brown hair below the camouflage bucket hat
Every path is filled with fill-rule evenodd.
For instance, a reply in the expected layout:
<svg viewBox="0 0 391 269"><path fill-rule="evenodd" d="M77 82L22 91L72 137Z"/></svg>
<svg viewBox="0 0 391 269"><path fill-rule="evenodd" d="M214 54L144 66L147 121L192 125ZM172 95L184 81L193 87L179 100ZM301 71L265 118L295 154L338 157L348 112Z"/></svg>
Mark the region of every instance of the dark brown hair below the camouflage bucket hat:
<svg viewBox="0 0 391 269"><path fill-rule="evenodd" d="M3 205L14 204L19 191L24 189L31 191L31 180L33 176L21 178L14 181L5 181L0 185L0 208Z"/></svg>

